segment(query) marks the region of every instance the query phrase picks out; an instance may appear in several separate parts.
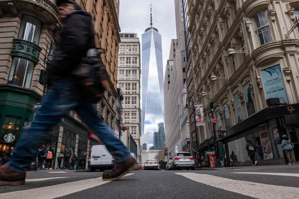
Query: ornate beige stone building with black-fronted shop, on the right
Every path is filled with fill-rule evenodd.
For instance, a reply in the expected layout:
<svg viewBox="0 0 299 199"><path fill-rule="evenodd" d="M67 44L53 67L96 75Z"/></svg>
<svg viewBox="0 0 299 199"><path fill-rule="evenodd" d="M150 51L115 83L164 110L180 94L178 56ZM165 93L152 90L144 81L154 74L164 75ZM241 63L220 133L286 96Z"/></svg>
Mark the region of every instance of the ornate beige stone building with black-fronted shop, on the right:
<svg viewBox="0 0 299 199"><path fill-rule="evenodd" d="M296 146L299 136L298 30L287 35L299 14L299 1L191 0L188 10L193 83L197 93L215 100L215 129L227 131L227 137L217 139L225 145L226 165L232 151L239 157L235 165L250 163L245 150L249 140L260 147L256 152L260 164L284 164L282 134ZM194 95L206 108L205 126L198 134L204 153L214 149L211 100ZM283 98L288 105L270 109L269 98Z"/></svg>

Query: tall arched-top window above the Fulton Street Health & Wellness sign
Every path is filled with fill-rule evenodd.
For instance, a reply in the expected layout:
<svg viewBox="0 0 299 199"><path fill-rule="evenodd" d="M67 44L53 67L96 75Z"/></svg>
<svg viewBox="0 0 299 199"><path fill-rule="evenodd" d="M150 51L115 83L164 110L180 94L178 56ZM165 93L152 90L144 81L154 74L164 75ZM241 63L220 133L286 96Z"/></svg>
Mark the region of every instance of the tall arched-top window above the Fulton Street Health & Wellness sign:
<svg viewBox="0 0 299 199"><path fill-rule="evenodd" d="M271 42L270 29L266 12L264 10L258 11L254 15L255 32L259 38L261 45Z"/></svg>

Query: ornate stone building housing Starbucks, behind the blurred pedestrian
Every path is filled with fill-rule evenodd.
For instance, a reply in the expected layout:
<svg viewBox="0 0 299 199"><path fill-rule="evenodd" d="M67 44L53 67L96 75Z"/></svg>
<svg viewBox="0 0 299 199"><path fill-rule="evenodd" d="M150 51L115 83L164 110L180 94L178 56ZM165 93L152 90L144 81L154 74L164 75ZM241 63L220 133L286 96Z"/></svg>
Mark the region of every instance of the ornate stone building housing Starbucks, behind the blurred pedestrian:
<svg viewBox="0 0 299 199"><path fill-rule="evenodd" d="M119 1L77 2L93 17L96 45L102 52L102 61L114 88L112 95L106 92L97 104L99 115L116 129L115 102L120 98L116 90ZM44 60L49 53L50 40L54 40L55 46L61 27L54 0L0 0L0 156L4 163L21 138L22 127L33 119L33 104L42 98L41 70L46 70ZM5 142L3 137L7 133L14 134L15 140ZM94 138L77 113L70 111L53 127L44 143L54 145L56 155L70 145L72 153L80 159L76 168L87 169L89 149L99 144Z"/></svg>

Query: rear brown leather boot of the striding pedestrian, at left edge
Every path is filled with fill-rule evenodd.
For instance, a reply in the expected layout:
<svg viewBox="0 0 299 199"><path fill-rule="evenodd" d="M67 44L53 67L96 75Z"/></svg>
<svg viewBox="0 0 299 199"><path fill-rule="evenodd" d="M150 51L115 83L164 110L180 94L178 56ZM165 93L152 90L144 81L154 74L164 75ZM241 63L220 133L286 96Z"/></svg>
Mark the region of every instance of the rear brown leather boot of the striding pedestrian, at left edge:
<svg viewBox="0 0 299 199"><path fill-rule="evenodd" d="M26 173L12 171L5 164L0 166L0 185L21 185L25 184Z"/></svg>

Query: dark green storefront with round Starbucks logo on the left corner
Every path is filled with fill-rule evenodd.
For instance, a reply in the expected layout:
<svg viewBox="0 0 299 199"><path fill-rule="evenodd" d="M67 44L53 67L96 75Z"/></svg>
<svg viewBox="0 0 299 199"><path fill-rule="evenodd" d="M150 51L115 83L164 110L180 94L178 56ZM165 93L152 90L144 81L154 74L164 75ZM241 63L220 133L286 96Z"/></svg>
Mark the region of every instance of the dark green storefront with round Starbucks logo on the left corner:
<svg viewBox="0 0 299 199"><path fill-rule="evenodd" d="M26 120L32 120L33 104L40 102L36 91L14 86L0 85L0 165L5 164L15 144L22 136Z"/></svg>

